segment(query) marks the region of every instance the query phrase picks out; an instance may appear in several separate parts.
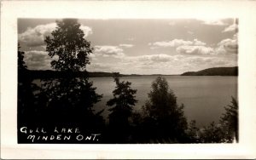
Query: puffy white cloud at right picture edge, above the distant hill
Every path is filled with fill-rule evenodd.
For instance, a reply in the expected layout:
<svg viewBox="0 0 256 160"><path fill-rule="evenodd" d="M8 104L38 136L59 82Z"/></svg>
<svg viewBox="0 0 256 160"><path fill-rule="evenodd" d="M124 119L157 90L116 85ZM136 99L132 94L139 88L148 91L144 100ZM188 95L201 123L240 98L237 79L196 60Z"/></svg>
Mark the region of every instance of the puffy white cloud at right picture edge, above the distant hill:
<svg viewBox="0 0 256 160"><path fill-rule="evenodd" d="M215 49L216 54L238 54L238 44L236 39L224 39L218 43Z"/></svg>

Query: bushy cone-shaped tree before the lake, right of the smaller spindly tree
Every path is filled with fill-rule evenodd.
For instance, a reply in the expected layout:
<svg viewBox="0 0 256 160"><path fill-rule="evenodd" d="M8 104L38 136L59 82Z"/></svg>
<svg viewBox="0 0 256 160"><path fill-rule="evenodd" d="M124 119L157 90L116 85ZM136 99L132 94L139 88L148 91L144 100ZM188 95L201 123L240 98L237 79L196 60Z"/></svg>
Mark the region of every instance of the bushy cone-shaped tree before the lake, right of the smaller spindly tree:
<svg viewBox="0 0 256 160"><path fill-rule="evenodd" d="M183 142L187 119L184 117L183 104L177 105L177 97L166 82L166 78L157 77L148 94L149 100L143 106L144 119L150 122L152 135L156 139ZM165 140L164 140L165 141Z"/></svg>

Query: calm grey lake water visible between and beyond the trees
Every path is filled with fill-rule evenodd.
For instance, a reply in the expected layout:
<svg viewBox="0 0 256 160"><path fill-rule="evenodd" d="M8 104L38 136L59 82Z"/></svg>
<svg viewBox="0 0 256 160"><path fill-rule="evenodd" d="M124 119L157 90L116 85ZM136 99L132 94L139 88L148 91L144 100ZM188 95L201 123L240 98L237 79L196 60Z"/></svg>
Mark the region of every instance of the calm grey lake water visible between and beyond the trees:
<svg viewBox="0 0 256 160"><path fill-rule="evenodd" d="M157 76L121 77L121 81L131 82L131 88L137 89L138 100L135 110L139 111L148 100L151 83ZM177 103L184 104L184 113L190 120L195 120L198 127L212 121L218 123L224 113L224 106L230 105L231 96L237 99L237 77L220 76L163 76L170 89L177 96ZM103 94L102 101L96 104L96 111L106 108L103 116L108 117L106 103L113 98L115 87L113 77L90 77L96 93Z"/></svg>

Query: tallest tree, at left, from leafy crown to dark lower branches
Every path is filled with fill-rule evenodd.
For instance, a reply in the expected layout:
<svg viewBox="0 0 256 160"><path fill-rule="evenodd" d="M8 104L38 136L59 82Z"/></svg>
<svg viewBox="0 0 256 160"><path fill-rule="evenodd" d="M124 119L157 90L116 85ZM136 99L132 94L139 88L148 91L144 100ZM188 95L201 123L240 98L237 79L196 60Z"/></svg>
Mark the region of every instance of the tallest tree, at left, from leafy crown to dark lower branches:
<svg viewBox="0 0 256 160"><path fill-rule="evenodd" d="M86 71L86 65L90 64L88 55L93 49L90 42L84 39L78 20L64 19L56 23L55 31L45 39L46 51L52 58L51 67L56 71L65 71L69 76L44 80L39 104L49 108L45 114L55 121L58 115L61 122L94 126L96 115L92 107L102 95L96 94L96 88L92 87L93 83L87 76L75 77L74 74Z"/></svg>

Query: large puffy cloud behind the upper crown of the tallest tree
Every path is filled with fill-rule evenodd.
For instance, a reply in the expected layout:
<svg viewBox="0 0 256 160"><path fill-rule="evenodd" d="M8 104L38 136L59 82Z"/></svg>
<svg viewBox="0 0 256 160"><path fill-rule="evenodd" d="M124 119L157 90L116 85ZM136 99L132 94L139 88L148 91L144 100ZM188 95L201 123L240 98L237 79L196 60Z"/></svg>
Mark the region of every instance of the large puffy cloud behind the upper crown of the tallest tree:
<svg viewBox="0 0 256 160"><path fill-rule="evenodd" d="M56 23L49 23L46 25L38 25L35 27L28 27L26 31L18 35L18 40L21 43L25 43L28 47L38 47L44 45L44 39L46 36L50 36L50 33L56 28ZM80 26L80 29L84 31L84 37L92 34L92 30L89 26Z"/></svg>

